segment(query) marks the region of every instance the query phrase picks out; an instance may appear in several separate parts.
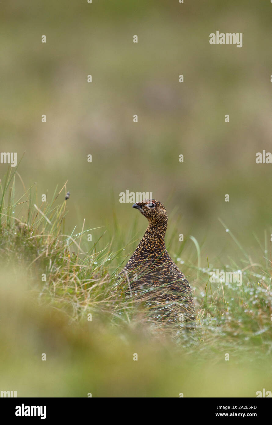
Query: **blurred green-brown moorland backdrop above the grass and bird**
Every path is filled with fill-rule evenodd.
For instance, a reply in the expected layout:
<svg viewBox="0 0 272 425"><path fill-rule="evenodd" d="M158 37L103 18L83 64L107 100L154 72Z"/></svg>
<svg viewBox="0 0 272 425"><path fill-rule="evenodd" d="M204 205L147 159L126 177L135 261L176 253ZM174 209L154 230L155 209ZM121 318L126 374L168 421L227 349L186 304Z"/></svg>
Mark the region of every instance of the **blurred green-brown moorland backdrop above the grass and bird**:
<svg viewBox="0 0 272 425"><path fill-rule="evenodd" d="M129 189L181 215L178 233L205 239L205 255L225 238L218 217L239 241L263 240L272 165L255 155L272 150L271 10L246 0L1 3L1 151L25 151L18 171L39 195L68 179L68 229L86 218L111 238L114 213L129 227L135 211L119 203ZM210 45L216 30L243 33L242 48ZM145 227L141 218L139 237Z"/></svg>

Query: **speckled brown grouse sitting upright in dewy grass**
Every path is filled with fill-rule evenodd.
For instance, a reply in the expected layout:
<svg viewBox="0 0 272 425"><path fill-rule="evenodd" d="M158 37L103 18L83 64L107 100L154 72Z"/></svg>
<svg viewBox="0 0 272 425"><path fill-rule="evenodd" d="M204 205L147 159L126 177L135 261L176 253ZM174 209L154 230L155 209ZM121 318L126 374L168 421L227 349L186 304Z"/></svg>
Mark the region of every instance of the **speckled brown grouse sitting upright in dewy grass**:
<svg viewBox="0 0 272 425"><path fill-rule="evenodd" d="M146 199L132 205L149 221L142 240L118 275L127 297L146 300L152 316L160 321L194 320L191 287L171 260L165 247L168 216L163 204Z"/></svg>

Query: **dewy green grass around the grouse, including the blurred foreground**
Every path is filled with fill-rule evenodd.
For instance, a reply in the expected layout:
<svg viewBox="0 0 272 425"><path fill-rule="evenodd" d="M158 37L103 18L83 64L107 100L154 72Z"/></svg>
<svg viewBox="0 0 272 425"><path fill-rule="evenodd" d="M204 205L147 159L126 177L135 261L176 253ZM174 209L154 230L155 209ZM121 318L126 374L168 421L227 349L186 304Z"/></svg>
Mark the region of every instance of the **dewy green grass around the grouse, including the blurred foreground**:
<svg viewBox="0 0 272 425"><path fill-rule="evenodd" d="M33 189L17 199L19 178L10 170L1 183L1 391L18 397L256 397L270 389L272 270L261 244L253 261L236 241L239 258L234 250L228 265L214 258L204 269L194 246L183 263L183 248L170 231L169 252L183 263L195 294L196 329L187 334L182 323L151 323L133 300L112 294L137 225L125 247L117 227L109 244L103 237L87 242L93 230L84 227L65 235L65 185L40 205ZM209 282L210 270L238 268L242 286Z"/></svg>

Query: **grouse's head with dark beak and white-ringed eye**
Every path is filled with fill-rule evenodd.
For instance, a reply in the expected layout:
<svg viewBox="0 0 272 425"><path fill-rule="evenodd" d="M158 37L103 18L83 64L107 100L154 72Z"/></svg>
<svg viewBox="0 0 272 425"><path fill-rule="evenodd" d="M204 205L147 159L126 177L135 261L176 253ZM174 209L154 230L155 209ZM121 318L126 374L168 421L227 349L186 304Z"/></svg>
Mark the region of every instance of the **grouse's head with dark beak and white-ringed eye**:
<svg viewBox="0 0 272 425"><path fill-rule="evenodd" d="M156 199L145 199L132 205L132 208L137 208L149 221L156 227L165 227L167 225L168 216L165 207Z"/></svg>

